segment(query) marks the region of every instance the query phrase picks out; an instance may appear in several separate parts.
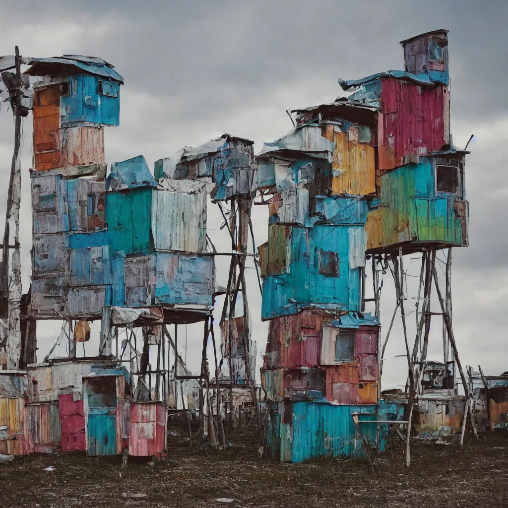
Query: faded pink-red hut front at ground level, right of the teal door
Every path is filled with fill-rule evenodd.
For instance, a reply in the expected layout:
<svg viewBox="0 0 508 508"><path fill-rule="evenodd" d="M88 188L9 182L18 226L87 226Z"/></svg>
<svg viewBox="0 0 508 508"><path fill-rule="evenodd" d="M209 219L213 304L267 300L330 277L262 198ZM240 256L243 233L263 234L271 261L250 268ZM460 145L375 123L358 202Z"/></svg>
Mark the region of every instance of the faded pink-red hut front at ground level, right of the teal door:
<svg viewBox="0 0 508 508"><path fill-rule="evenodd" d="M166 450L168 411L162 402L134 402L131 406L129 455L158 456Z"/></svg>

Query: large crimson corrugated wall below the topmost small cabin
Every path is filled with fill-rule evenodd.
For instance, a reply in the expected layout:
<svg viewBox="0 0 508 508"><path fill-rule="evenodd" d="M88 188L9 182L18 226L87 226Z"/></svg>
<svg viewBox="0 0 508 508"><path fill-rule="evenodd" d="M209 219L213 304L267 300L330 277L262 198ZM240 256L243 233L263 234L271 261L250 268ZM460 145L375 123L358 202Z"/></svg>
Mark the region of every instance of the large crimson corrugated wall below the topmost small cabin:
<svg viewBox="0 0 508 508"><path fill-rule="evenodd" d="M439 151L450 142L450 96L446 86L422 86L385 78L378 120L378 167L394 169L409 156Z"/></svg>

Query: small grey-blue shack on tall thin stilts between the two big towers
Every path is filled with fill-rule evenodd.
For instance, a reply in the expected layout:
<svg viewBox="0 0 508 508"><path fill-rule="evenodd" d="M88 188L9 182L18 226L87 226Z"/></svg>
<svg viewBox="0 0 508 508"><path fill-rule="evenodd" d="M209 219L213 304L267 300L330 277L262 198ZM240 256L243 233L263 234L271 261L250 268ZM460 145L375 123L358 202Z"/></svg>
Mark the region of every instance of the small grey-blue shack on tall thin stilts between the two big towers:
<svg viewBox="0 0 508 508"><path fill-rule="evenodd" d="M220 317L221 362L217 363L217 351L213 328L213 317L205 323L203 342L202 378L206 380L206 393L213 389L214 407L210 416L217 415L217 425L221 427L221 407L224 416L228 415L229 425L236 426L239 420L239 408L250 399L257 414L256 385L256 343L250 339L249 308L246 296L245 262L253 253L247 252L249 233L252 237L250 212L252 207L252 188L255 165L252 151L253 142L225 134L196 148L185 147L175 157L161 159L155 163L155 178L161 185L206 185L212 202L215 203L224 218L223 227L227 228L231 239L231 252L217 252L211 239L206 239L212 249L210 256L231 256L227 287L219 287L214 297L224 295L224 305ZM204 187L203 187L204 188ZM206 205L206 199L205 199ZM229 204L229 210L225 205ZM227 215L229 214L229 217ZM187 234L188 224L182 224ZM192 228L192 226L191 226ZM182 230L183 233L183 230ZM189 287L197 293L197 285ZM238 309L237 300L241 294L242 308ZM206 345L211 335L214 360L214 382L209 383L206 362ZM220 365L227 361L228 374L224 375ZM227 393L225 393L227 392ZM225 405L221 400L225 399ZM259 418L259 414L258 414ZM213 424L210 426L213 438ZM216 429L218 430L218 429ZM222 432L224 440L224 432Z"/></svg>

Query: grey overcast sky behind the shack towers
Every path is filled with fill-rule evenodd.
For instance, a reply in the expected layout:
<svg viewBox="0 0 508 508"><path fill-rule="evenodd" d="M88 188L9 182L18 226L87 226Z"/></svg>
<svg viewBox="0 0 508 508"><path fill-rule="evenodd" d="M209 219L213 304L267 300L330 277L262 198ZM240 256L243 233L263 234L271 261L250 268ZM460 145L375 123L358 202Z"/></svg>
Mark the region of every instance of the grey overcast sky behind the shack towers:
<svg viewBox="0 0 508 508"><path fill-rule="evenodd" d="M120 126L106 129L106 160L110 164L143 154L153 167L155 160L184 145L196 146L225 132L252 139L259 151L264 141L291 129L285 110L333 101L341 93L338 77L356 79L403 69L400 40L449 29L453 140L463 147L471 134L475 136L466 159L470 246L454 249L454 332L463 364L480 363L486 374L499 374L508 370L508 241L503 216L508 210L507 21L508 3L501 1L0 0L0 54L13 54L17 44L27 56L75 53L111 62L125 84ZM3 106L0 211L5 210L13 131L11 111ZM30 116L23 133L21 242L26 291L31 246ZM253 221L258 244L265 241L267 226L267 213L259 208ZM209 227L220 234L217 225ZM410 262L409 273L418 273L417 265ZM248 281L253 338L262 353L267 327L260 320L253 270ZM383 336L394 301L392 281L387 278L385 284ZM414 309L414 302L407 306ZM435 359L441 358L438 332L436 322L430 347ZM390 339L384 388L405 380L405 359L395 357L404 353L400 333L395 328ZM47 351L54 331L40 327L39 335L39 346ZM189 336L191 368L199 366L201 340Z"/></svg>

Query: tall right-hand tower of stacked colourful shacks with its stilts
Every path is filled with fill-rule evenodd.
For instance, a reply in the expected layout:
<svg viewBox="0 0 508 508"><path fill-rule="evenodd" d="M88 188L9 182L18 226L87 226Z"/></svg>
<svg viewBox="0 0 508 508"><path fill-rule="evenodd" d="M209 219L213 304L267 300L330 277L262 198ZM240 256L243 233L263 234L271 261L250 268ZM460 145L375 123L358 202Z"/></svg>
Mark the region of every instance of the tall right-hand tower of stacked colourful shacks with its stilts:
<svg viewBox="0 0 508 508"><path fill-rule="evenodd" d="M449 368L457 363L465 386L451 327L450 270L451 247L467 245L467 152L450 136L447 31L401 44L404 71L339 80L353 90L347 98L293 111L295 130L258 156L261 199L270 207L268 242L259 249L262 318L270 320L262 379L268 447L281 460L363 454L367 445L383 450L386 422L400 417L400 406L379 398L380 272L391 269L402 314L409 428L433 314L446 330L445 362L451 344ZM444 247L443 299L434 263ZM422 252L423 303L419 289L410 341L403 256L414 252ZM366 257L373 298L365 296ZM430 310L433 280L440 312ZM366 301L374 302L373 315L364 311ZM450 379L444 388L453 396L453 372Z"/></svg>

